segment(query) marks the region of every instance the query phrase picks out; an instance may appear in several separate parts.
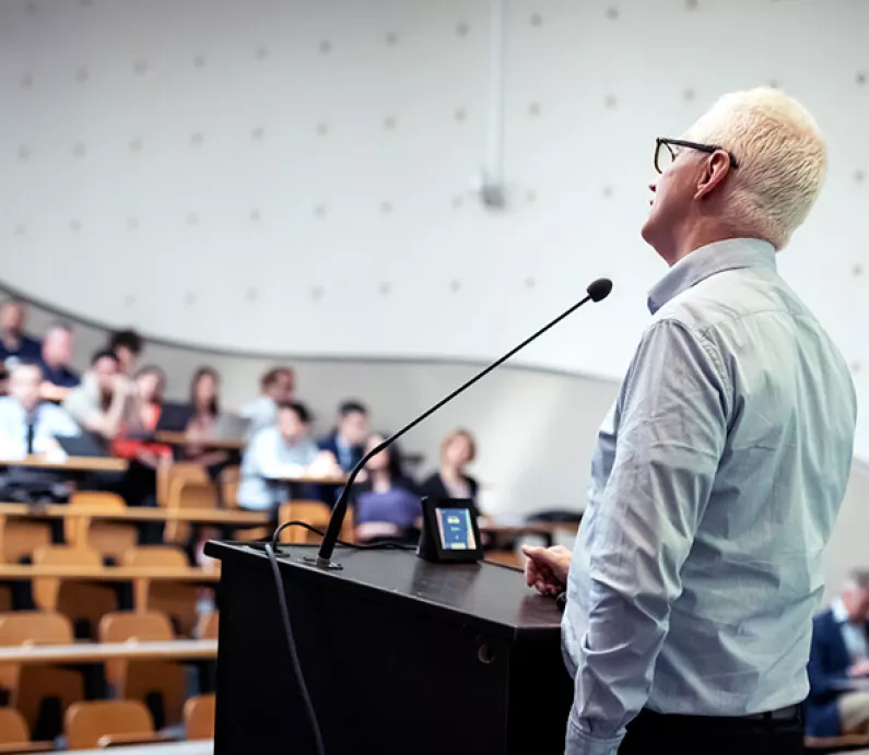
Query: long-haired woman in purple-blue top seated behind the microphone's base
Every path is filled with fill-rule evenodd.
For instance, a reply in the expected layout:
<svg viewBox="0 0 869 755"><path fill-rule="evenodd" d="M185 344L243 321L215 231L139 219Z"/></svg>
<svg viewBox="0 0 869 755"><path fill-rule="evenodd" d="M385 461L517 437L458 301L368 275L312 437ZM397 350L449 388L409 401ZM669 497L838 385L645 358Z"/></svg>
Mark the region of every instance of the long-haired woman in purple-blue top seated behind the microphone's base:
<svg viewBox="0 0 869 755"><path fill-rule="evenodd" d="M372 435L365 452L374 450L385 437ZM411 542L419 538L422 500L415 484L401 469L401 456L395 445L373 456L365 472L365 482L352 493L356 539Z"/></svg>

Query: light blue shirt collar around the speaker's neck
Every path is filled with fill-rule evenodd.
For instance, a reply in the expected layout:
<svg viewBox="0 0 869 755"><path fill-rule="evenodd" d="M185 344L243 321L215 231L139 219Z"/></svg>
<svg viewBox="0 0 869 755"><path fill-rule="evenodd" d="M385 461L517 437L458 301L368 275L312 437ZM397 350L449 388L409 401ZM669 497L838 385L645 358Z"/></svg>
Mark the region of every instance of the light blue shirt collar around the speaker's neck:
<svg viewBox="0 0 869 755"><path fill-rule="evenodd" d="M760 238L728 238L707 244L679 260L649 291L648 308L654 315L670 299L702 280L739 268L775 270L775 247Z"/></svg>

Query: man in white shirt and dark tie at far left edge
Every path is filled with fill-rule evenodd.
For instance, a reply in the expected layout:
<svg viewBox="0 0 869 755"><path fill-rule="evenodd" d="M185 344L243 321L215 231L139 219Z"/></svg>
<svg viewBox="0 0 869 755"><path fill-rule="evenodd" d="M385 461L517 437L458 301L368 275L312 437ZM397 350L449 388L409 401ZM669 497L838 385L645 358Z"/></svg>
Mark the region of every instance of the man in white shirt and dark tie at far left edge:
<svg viewBox="0 0 869 755"><path fill-rule="evenodd" d="M0 458L5 461L50 453L58 450L57 436L80 433L67 412L40 400L42 379L34 362L21 361L10 370L9 396L0 398Z"/></svg>

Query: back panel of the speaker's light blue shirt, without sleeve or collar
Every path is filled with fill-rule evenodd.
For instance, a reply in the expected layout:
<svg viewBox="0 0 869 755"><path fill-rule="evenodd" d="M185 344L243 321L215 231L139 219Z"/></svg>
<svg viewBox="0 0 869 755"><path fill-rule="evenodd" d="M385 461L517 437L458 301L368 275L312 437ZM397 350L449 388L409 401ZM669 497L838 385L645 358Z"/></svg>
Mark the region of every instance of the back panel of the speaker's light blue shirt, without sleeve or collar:
<svg viewBox="0 0 869 755"><path fill-rule="evenodd" d="M700 689L715 689L709 712L794 703L795 687L808 692L821 559L850 470L856 400L847 366L772 267L705 278L657 318L706 339L731 392L725 450L682 567L650 699L690 679L689 653L705 680ZM698 641L705 652L692 647ZM704 658L709 666L696 668ZM745 698L752 686L756 701Z"/></svg>

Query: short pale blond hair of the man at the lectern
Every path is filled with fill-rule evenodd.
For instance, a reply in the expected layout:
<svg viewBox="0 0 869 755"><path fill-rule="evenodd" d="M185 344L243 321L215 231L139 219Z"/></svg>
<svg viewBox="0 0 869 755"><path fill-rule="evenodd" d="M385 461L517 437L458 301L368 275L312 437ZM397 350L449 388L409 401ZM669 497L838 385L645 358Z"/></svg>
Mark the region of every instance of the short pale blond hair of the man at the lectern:
<svg viewBox="0 0 869 755"><path fill-rule="evenodd" d="M721 97L685 139L730 152L728 210L754 235L782 249L812 209L826 174L826 145L811 114L778 90Z"/></svg>

